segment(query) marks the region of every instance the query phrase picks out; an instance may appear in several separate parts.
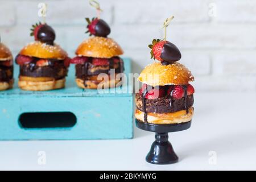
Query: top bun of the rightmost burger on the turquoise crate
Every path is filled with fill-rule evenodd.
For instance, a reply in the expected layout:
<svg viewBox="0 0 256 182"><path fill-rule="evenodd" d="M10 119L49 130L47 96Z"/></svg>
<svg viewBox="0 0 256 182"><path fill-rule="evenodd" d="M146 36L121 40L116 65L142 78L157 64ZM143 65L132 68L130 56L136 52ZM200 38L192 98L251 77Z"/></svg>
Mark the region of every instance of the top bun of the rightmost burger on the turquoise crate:
<svg viewBox="0 0 256 182"><path fill-rule="evenodd" d="M76 55L86 57L111 58L122 54L123 50L118 43L100 36L86 39L76 50Z"/></svg>

